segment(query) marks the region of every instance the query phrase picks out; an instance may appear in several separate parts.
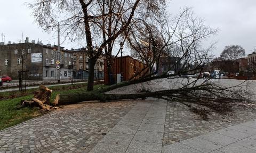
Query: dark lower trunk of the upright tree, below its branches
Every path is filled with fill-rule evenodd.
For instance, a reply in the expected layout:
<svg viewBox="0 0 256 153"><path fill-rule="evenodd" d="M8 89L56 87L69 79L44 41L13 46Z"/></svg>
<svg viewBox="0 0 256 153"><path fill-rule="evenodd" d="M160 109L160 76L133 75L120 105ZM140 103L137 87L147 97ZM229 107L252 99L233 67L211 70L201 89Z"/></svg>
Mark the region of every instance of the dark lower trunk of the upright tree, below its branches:
<svg viewBox="0 0 256 153"><path fill-rule="evenodd" d="M87 91L93 90L94 66L95 66L96 61L97 61L97 58L89 58L89 77L88 77Z"/></svg>

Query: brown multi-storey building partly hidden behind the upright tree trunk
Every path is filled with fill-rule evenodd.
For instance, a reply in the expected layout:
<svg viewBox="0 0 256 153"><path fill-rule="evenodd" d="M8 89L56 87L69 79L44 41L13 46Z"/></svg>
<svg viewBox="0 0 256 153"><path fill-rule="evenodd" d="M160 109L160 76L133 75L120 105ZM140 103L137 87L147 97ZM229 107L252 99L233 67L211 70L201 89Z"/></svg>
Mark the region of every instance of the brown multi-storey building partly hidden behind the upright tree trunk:
<svg viewBox="0 0 256 153"><path fill-rule="evenodd" d="M77 79L87 79L89 76L89 58L86 48L72 49L74 60L74 77ZM104 57L100 56L94 66L94 79L104 78Z"/></svg>

